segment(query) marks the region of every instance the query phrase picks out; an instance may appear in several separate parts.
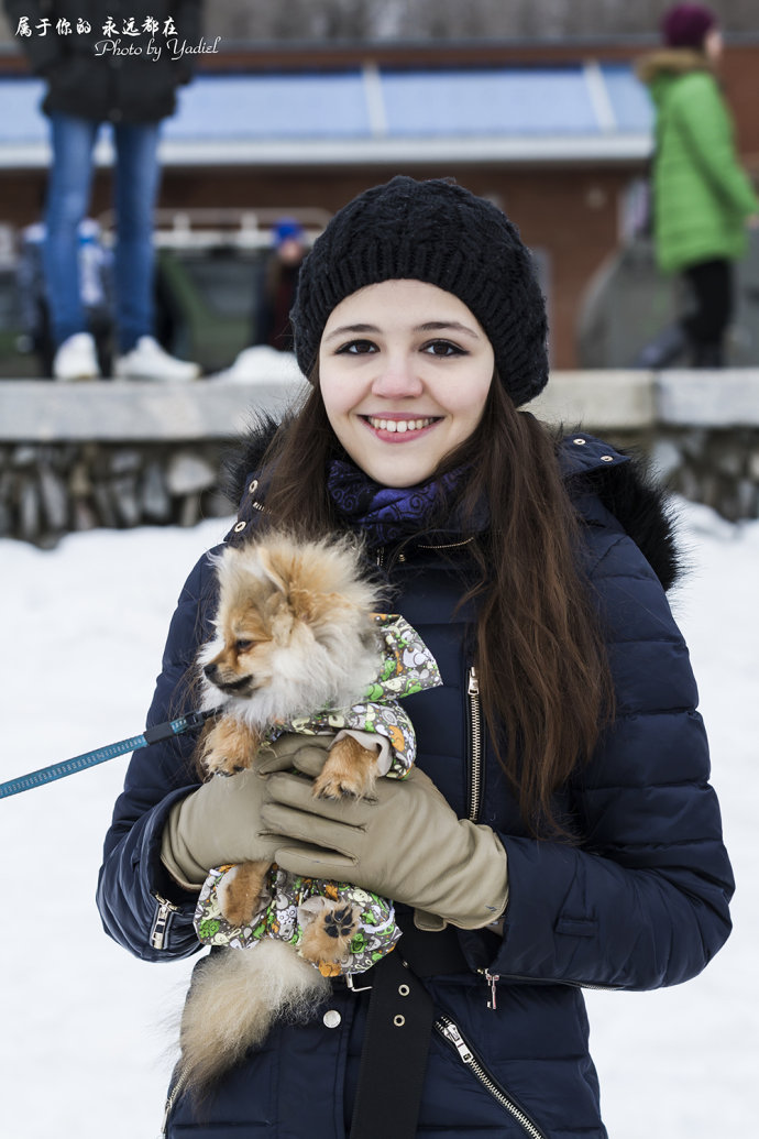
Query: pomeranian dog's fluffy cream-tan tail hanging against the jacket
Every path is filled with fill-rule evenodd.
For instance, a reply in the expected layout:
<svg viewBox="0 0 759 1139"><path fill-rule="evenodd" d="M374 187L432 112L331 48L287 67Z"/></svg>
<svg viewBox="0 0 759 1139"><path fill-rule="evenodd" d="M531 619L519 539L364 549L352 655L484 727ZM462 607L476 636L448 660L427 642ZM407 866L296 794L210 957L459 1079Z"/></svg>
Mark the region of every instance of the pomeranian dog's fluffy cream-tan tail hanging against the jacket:
<svg viewBox="0 0 759 1139"><path fill-rule="evenodd" d="M281 941L209 954L182 1014L180 1077L203 1098L275 1019L306 1019L329 992L329 981Z"/></svg>

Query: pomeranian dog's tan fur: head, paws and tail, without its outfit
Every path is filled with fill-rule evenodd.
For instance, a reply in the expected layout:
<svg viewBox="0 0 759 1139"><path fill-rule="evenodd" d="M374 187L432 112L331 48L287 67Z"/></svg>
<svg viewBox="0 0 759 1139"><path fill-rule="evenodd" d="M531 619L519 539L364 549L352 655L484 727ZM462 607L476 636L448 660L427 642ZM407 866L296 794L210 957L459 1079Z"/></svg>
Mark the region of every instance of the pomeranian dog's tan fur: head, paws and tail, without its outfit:
<svg viewBox="0 0 759 1139"><path fill-rule="evenodd" d="M254 764L275 726L354 705L382 664L378 587L354 541L269 532L226 548L216 573L216 633L198 662L204 706L220 708L198 744L208 777ZM365 795L378 764L377 748L350 735L337 738L314 795ZM230 924L250 921L265 904L269 870L263 858L224 874L218 902ZM358 913L339 895L320 901L298 951L264 939L248 949L216 949L197 968L180 1030L180 1076L191 1090L208 1091L247 1048L263 1042L277 1017L303 1018L329 993L314 965L344 959Z"/></svg>

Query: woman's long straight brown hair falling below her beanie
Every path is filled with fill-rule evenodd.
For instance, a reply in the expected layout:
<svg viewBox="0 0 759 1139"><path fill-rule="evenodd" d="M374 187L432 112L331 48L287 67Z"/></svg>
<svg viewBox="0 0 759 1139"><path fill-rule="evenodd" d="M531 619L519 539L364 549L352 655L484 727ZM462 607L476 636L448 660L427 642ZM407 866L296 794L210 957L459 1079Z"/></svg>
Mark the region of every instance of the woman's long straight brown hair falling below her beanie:
<svg viewBox="0 0 759 1139"><path fill-rule="evenodd" d="M496 376L478 427L437 472L467 470L455 503L464 522L488 503L489 527L468 546L478 575L462 604L478 604L477 669L495 753L526 826L543 837L569 837L554 793L589 759L613 706L599 618L578 566L581 533L559 468L559 440L514 408ZM339 453L315 375L265 459L267 513L277 525L308 533L336 525L325 474Z"/></svg>

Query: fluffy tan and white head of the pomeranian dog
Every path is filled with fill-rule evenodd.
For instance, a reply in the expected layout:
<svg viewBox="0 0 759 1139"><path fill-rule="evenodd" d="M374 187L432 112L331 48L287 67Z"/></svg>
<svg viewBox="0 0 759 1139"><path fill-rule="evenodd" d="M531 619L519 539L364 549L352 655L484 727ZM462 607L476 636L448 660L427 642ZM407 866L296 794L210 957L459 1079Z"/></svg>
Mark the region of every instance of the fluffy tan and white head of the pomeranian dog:
<svg viewBox="0 0 759 1139"><path fill-rule="evenodd" d="M347 543L270 535L225 550L217 573L216 637L200 656L212 703L221 693L263 721L361 697L378 661L374 596Z"/></svg>

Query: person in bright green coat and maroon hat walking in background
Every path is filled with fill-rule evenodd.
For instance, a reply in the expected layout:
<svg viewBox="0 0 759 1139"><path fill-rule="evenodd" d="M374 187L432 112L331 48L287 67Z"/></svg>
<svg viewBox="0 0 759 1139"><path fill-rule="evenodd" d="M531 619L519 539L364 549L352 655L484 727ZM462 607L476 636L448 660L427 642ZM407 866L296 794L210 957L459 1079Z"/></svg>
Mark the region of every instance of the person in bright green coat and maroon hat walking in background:
<svg viewBox="0 0 759 1139"><path fill-rule="evenodd" d="M733 262L745 251L746 222L759 221L759 199L739 165L719 89L716 15L701 5L675 5L661 30L665 46L637 65L657 112L654 245L662 272L686 278L693 308L643 350L638 363L666 367L687 354L693 367L719 368L733 311Z"/></svg>

